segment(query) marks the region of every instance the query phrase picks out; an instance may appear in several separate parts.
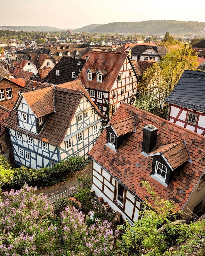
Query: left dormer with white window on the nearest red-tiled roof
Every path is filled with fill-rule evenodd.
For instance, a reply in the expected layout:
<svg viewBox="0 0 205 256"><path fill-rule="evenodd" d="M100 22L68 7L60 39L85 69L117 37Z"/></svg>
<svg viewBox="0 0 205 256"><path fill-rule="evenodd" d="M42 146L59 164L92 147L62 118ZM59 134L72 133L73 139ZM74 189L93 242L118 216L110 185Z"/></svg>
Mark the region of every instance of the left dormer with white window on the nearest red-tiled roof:
<svg viewBox="0 0 205 256"><path fill-rule="evenodd" d="M128 133L136 132L135 118L134 116L131 116L129 118L110 123L103 128L106 128L107 132L106 146L116 151Z"/></svg>

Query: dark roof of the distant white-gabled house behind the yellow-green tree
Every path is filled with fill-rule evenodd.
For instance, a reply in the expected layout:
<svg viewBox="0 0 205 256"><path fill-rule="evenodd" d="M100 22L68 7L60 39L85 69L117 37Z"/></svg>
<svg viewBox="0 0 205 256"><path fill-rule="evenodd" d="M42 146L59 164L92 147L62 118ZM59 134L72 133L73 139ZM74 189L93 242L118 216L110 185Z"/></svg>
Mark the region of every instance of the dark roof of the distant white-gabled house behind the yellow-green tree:
<svg viewBox="0 0 205 256"><path fill-rule="evenodd" d="M135 45L135 47L131 49L131 56L138 56L142 54L144 51L146 51L147 48L153 48L160 57L164 57L166 53L169 52L164 45L157 45L157 46Z"/></svg>

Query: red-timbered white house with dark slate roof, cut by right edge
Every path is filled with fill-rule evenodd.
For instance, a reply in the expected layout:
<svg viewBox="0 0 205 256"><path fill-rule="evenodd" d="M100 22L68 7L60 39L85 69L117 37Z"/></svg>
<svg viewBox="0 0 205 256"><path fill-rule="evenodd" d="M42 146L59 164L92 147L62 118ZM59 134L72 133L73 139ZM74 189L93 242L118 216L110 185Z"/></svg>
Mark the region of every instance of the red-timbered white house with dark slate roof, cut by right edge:
<svg viewBox="0 0 205 256"><path fill-rule="evenodd" d="M184 70L170 95L168 120L205 135L205 73Z"/></svg>

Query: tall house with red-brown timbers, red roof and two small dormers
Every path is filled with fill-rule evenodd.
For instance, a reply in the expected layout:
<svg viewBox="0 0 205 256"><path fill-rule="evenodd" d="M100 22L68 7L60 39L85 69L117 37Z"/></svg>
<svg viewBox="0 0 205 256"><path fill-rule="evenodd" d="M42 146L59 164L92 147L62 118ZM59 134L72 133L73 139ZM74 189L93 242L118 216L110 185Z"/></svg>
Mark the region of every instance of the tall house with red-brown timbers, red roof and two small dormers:
<svg viewBox="0 0 205 256"><path fill-rule="evenodd" d="M135 103L139 78L128 53L93 51L78 78L105 116L108 102L111 114L122 101Z"/></svg>

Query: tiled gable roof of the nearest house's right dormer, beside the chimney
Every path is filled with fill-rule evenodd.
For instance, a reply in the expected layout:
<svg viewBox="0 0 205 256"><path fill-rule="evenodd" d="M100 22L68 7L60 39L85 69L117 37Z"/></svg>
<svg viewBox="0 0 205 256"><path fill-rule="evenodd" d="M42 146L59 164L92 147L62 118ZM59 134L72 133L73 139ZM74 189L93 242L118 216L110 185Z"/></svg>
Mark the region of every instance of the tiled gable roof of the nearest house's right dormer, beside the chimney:
<svg viewBox="0 0 205 256"><path fill-rule="evenodd" d="M173 169L176 169L189 160L189 152L184 140L163 145L148 155L154 153L162 153Z"/></svg>

